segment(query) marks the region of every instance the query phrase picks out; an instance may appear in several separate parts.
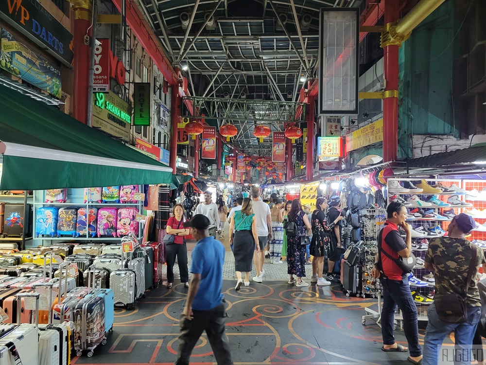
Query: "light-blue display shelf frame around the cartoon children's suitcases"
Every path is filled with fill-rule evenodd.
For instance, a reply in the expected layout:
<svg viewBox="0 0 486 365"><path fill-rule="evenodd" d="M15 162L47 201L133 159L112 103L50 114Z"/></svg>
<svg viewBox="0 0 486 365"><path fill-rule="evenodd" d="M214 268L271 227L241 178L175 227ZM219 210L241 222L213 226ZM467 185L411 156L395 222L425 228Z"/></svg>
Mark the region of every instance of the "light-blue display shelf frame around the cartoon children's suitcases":
<svg viewBox="0 0 486 365"><path fill-rule="evenodd" d="M103 207L117 207L117 208L123 208L123 207L135 207L139 210L139 214L143 213L143 201L139 201L137 203L112 203L112 202L107 202L107 203L98 203L98 202L84 202L84 189L83 188L77 188L77 189L68 189L68 194L67 194L67 201L66 202L45 202L45 196L46 192L45 190L35 190L34 191L34 219L33 219L33 241L41 240L42 244L41 246L47 246L51 244L55 244L54 242L56 241L82 241L82 242L110 242L109 244L115 244L115 243L120 243L121 242L121 237L91 237L89 232L86 232L86 236L80 236L80 237L72 237L72 236L61 236L61 237L49 237L49 236L39 236L36 237L35 234L35 223L37 221L37 209L40 207L57 207L57 208L63 208L63 207L73 207L73 208L86 208L89 209L91 207L93 208L103 208ZM76 217L77 219L77 217ZM139 222L139 235L138 238L141 239L143 236L143 224L142 222Z"/></svg>

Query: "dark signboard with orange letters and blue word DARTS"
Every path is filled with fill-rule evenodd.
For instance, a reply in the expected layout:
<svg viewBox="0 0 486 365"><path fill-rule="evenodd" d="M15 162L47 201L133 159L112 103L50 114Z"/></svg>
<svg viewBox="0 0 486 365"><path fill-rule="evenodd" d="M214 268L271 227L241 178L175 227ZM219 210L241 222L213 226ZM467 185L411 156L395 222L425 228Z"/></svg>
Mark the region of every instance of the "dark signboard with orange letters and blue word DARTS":
<svg viewBox="0 0 486 365"><path fill-rule="evenodd" d="M2 0L0 17L63 63L72 65L72 34L38 1Z"/></svg>

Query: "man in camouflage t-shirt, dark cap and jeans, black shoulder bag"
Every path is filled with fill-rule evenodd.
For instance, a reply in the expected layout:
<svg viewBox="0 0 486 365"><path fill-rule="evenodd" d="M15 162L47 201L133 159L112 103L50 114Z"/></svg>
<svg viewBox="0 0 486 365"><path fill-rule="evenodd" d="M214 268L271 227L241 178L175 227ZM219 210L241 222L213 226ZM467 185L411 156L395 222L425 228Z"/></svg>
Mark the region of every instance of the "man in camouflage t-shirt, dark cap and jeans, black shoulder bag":
<svg viewBox="0 0 486 365"><path fill-rule="evenodd" d="M445 361L445 356L452 357L451 349L447 355L442 354L444 359L439 358L442 342L452 331L456 353L464 354L459 364L470 364L469 353L481 317L478 270L486 263L483 250L466 239L475 226L471 216L458 214L447 228L447 237L435 238L429 244L425 268L434 270L435 296L427 310L422 364L437 364ZM479 348L482 350L482 346Z"/></svg>

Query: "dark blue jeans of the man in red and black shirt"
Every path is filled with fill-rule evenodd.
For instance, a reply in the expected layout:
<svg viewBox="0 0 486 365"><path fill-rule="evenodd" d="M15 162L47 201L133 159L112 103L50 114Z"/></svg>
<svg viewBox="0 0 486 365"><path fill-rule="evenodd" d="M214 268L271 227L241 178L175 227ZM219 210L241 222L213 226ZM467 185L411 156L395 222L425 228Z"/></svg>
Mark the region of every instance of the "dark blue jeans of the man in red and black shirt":
<svg viewBox="0 0 486 365"><path fill-rule="evenodd" d="M393 322L397 307L403 313L403 332L408 341L410 356L417 357L422 354L418 344L417 306L415 305L408 280L380 279L383 287L382 309L382 337L383 345L393 345Z"/></svg>

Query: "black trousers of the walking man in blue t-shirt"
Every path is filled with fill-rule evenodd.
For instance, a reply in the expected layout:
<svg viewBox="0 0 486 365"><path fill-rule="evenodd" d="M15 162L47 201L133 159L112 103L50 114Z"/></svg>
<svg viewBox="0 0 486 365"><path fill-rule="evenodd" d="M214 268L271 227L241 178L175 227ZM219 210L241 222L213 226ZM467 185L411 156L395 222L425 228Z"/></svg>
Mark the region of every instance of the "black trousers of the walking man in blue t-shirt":
<svg viewBox="0 0 486 365"><path fill-rule="evenodd" d="M210 310L192 310L192 319L188 320L181 314L181 334L179 335L179 348L175 365L189 365L189 358L194 346L203 331L208 335L209 344L218 365L233 365L229 351L228 336L226 336L226 310L225 305Z"/></svg>

